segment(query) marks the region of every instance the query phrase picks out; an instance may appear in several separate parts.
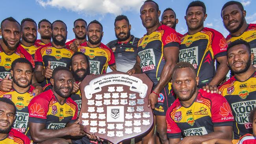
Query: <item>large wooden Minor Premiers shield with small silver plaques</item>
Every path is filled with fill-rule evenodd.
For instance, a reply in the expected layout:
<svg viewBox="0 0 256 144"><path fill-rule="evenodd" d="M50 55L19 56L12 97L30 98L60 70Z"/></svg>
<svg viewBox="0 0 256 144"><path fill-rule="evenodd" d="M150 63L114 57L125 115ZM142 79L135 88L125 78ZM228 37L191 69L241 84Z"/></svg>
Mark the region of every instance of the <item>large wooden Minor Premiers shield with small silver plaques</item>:
<svg viewBox="0 0 256 144"><path fill-rule="evenodd" d="M113 144L142 135L154 123L148 95L153 82L146 74L122 72L88 75L80 84L80 124L88 134Z"/></svg>

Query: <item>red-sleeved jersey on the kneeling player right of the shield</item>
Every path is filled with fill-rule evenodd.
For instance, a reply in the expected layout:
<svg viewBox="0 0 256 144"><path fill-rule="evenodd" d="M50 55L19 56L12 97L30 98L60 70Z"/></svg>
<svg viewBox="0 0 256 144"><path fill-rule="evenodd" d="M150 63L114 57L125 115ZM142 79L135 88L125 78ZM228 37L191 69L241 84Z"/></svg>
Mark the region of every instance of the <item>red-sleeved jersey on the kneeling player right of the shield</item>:
<svg viewBox="0 0 256 144"><path fill-rule="evenodd" d="M177 98L166 113L168 138L206 135L213 127L233 126L234 117L226 99L199 89L197 98L184 107Z"/></svg>

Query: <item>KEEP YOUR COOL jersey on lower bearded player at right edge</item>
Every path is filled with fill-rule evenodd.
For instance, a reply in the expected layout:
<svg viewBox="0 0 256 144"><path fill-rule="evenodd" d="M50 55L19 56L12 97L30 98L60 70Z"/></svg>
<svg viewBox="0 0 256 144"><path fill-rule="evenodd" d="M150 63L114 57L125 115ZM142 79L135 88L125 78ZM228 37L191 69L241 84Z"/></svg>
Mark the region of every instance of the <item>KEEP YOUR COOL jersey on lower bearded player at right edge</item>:
<svg viewBox="0 0 256 144"><path fill-rule="evenodd" d="M249 115L256 106L256 71L246 81L238 81L235 76L231 77L219 87L219 90L230 104L235 118L234 138L239 139L246 133L252 133Z"/></svg>

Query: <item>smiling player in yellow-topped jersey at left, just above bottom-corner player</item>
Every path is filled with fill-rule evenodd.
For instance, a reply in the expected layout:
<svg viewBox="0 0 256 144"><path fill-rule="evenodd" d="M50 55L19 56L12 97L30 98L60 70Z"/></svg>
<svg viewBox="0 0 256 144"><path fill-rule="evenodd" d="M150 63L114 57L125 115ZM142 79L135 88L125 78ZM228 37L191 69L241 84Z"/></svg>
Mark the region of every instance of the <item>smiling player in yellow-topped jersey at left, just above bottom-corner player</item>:
<svg viewBox="0 0 256 144"><path fill-rule="evenodd" d="M13 129L27 135L28 132L28 104L33 98L31 85L33 66L25 58L18 58L11 64L13 88L9 92L0 91L1 98L9 98L15 103L16 113Z"/></svg>

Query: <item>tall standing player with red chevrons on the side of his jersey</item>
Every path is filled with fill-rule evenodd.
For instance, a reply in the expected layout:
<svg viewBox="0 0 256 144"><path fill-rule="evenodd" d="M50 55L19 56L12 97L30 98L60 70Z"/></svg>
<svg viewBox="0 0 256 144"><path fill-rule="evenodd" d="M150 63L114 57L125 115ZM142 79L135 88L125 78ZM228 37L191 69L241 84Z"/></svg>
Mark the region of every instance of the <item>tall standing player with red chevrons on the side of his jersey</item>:
<svg viewBox="0 0 256 144"><path fill-rule="evenodd" d="M226 65L226 40L221 33L204 27L206 7L201 1L187 6L188 32L181 38L179 60L191 63L197 71L199 88L213 91L228 73ZM215 70L215 60L220 64Z"/></svg>

